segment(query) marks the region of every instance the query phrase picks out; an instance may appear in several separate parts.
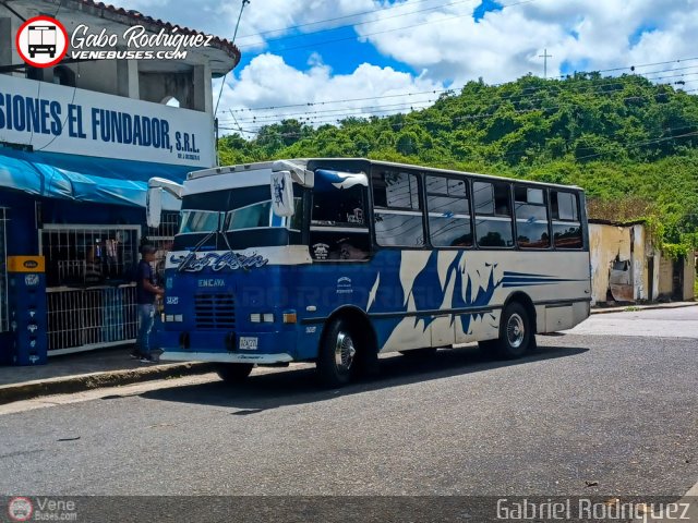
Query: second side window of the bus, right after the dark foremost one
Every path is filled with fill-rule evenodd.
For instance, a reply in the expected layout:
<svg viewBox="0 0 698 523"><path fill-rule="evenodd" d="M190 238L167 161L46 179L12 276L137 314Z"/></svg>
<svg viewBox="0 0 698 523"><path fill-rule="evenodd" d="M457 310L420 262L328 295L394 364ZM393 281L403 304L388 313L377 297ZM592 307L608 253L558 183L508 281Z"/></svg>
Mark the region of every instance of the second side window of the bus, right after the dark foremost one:
<svg viewBox="0 0 698 523"><path fill-rule="evenodd" d="M373 174L375 239L378 245L424 246L424 226L416 174L378 171Z"/></svg>

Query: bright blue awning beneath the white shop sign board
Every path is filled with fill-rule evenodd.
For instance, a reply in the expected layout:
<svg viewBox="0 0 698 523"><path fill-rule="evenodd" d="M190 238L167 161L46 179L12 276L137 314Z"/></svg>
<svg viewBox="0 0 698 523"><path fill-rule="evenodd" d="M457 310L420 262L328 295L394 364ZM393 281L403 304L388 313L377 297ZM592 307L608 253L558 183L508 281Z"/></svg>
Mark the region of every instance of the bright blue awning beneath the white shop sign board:
<svg viewBox="0 0 698 523"><path fill-rule="evenodd" d="M75 202L145 207L151 178L182 183L196 169L0 147L0 188ZM178 208L169 204L166 208Z"/></svg>

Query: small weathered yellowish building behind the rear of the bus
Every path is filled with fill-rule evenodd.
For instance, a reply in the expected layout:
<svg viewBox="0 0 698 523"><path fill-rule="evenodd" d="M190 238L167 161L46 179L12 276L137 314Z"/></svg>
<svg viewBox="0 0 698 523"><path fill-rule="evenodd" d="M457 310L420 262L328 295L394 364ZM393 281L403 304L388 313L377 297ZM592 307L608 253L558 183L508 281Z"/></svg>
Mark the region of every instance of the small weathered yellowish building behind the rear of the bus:
<svg viewBox="0 0 698 523"><path fill-rule="evenodd" d="M589 222L591 304L694 299L696 257L659 251L645 222Z"/></svg>

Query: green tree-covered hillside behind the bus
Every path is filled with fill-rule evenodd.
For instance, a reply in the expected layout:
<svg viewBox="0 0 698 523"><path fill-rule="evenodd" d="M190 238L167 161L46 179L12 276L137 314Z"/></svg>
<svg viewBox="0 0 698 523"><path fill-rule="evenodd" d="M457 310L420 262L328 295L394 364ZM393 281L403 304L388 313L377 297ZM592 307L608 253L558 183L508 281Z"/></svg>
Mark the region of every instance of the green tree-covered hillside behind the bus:
<svg viewBox="0 0 698 523"><path fill-rule="evenodd" d="M359 156L576 184L592 218L648 219L670 253L698 244L698 97L642 76L470 82L429 109L318 129L287 120L219 149L224 165Z"/></svg>

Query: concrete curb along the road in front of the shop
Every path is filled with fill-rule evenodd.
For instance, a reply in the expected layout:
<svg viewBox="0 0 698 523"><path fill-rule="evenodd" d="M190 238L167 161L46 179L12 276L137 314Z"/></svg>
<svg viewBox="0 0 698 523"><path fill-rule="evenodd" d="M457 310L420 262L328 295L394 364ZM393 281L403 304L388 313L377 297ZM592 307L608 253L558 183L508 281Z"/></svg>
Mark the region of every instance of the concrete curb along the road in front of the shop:
<svg viewBox="0 0 698 523"><path fill-rule="evenodd" d="M69 394L103 387L117 387L155 379L207 374L214 372L215 368L215 363L186 362L3 385L0 386L0 405L43 396Z"/></svg>

